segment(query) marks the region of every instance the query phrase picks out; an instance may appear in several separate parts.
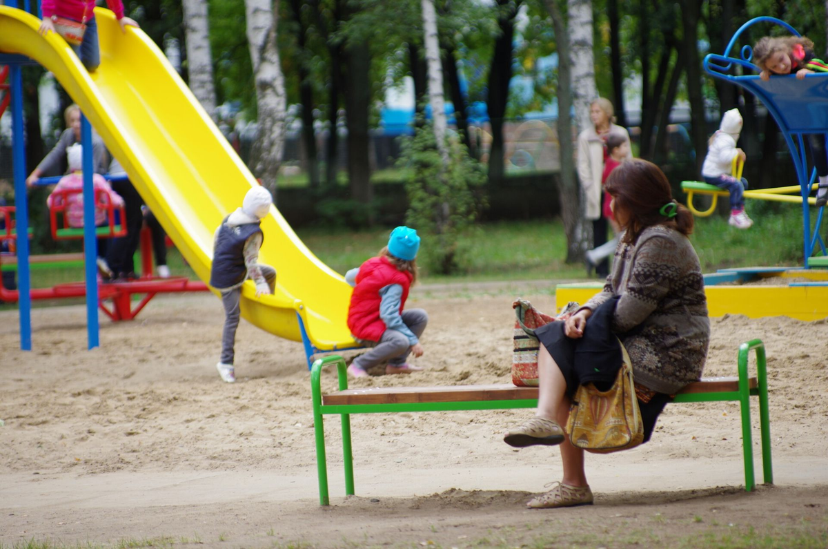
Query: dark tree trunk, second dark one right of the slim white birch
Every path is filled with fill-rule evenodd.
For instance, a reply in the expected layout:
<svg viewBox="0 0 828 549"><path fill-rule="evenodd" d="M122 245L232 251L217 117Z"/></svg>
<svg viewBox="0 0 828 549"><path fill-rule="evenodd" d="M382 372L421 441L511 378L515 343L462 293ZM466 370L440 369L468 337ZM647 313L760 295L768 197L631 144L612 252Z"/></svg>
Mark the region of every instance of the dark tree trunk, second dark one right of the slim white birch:
<svg viewBox="0 0 828 549"><path fill-rule="evenodd" d="M489 124L492 126L492 146L489 149L489 183L503 180L503 119L509 97L509 81L512 80L512 42L514 39L514 18L520 0L498 0L498 27L500 35L494 41L494 52L489 67L489 96L486 107ZM508 6L508 11L502 8Z"/></svg>

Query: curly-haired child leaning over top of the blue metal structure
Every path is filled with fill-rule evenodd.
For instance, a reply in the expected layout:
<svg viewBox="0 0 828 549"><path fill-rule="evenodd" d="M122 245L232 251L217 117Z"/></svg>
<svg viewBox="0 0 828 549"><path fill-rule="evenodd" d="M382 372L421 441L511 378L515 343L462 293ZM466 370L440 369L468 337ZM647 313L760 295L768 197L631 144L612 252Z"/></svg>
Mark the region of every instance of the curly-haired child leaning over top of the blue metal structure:
<svg viewBox="0 0 828 549"><path fill-rule="evenodd" d="M764 36L753 46L753 63L762 72L759 77L769 80L771 73L790 75L797 73L802 80L814 72L828 72L828 64L814 56L814 43L805 36ZM816 190L816 206L828 202L828 156L826 156L825 134L809 134L808 146L814 158L816 175L820 177Z"/></svg>

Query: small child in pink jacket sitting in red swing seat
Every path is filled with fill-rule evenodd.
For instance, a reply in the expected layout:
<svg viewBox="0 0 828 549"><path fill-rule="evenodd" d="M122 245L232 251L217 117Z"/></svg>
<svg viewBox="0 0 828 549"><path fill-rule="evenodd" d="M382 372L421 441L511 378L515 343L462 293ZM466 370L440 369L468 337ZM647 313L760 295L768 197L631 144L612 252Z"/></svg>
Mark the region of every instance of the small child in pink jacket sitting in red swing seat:
<svg viewBox="0 0 828 549"><path fill-rule="evenodd" d="M55 188L52 189L51 194L46 198L46 206L62 206L63 201L66 201L66 224L73 228L84 226L84 172L83 172L83 158L84 148L80 143L76 143L66 149L66 158L69 161L69 173L60 177ZM92 186L94 187L94 202L99 202L102 199L101 192L103 192L103 200L110 202L115 206L123 206L123 198L117 192L109 187L109 182L103 176L94 173L92 175ZM68 195L64 191L74 191ZM103 227L108 225L108 218L106 211L102 207L95 208L95 226ZM106 262L106 252L108 249L108 239L98 239L98 271L104 279L112 277L113 272L109 269Z"/></svg>

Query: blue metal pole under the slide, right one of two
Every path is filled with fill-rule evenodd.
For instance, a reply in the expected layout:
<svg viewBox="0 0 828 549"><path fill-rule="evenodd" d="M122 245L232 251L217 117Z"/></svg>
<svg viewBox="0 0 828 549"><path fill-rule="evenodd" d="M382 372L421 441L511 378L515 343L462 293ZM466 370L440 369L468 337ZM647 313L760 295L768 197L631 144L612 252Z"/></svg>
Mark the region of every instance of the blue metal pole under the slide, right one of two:
<svg viewBox="0 0 828 549"><path fill-rule="evenodd" d="M86 272L86 333L89 348L99 347L98 241L95 238L95 193L92 177L92 126L80 115L80 143L84 148L84 267Z"/></svg>

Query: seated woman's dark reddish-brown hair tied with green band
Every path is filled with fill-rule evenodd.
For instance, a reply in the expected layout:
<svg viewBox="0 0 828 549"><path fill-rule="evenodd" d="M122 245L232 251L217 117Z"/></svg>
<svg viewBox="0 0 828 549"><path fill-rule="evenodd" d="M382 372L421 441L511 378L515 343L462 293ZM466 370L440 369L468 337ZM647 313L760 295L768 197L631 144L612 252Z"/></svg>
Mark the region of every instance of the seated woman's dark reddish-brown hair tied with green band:
<svg viewBox="0 0 828 549"><path fill-rule="evenodd" d="M609 174L604 188L615 199L614 209L629 214L622 227L626 230L623 242L634 244L641 232L653 225L674 226L685 236L693 232L693 214L673 200L667 176L652 162L631 158L621 163ZM661 212L668 202L676 204L676 216L672 218Z"/></svg>

